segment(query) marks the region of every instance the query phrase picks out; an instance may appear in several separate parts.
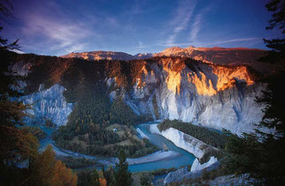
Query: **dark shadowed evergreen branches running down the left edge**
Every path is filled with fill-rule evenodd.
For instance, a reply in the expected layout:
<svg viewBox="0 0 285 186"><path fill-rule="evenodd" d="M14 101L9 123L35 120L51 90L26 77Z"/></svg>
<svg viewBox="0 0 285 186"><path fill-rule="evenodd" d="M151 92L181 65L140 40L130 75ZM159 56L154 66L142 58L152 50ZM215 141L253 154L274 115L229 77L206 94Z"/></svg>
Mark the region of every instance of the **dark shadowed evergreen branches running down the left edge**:
<svg viewBox="0 0 285 186"><path fill-rule="evenodd" d="M0 20L3 21L6 17L12 17L12 5L9 1L0 2ZM0 23L0 32L2 29ZM9 61L12 54L7 49L16 45L16 42L9 44L0 36L0 184L20 182L25 175L16 171L16 164L35 158L38 146L37 139L28 130L20 130L17 127L24 124L23 118L28 116L25 113L28 106L12 100L12 97L17 98L20 95L11 88L18 85L16 79L19 77L12 76L11 71L8 71L8 67L12 65Z"/></svg>

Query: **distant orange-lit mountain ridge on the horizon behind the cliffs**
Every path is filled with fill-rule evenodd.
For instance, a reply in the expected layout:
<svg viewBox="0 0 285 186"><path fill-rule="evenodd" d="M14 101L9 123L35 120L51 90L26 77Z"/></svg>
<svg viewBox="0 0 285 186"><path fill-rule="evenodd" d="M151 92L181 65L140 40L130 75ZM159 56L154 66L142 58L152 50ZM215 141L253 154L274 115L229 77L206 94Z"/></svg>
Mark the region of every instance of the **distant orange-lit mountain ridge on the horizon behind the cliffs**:
<svg viewBox="0 0 285 186"><path fill-rule="evenodd" d="M262 73L271 73L275 71L275 67L268 63L260 63L258 58L266 55L267 50L259 48L196 48L189 46L187 48L166 48L158 53L138 53L136 55L130 55L124 52L113 52L113 51L91 51L91 52L78 52L70 53L64 58L77 57L83 58L89 61L94 60L136 60L136 59L147 59L156 56L180 56L190 57L201 61L203 63L212 64L227 64L227 65L249 65L255 71Z"/></svg>

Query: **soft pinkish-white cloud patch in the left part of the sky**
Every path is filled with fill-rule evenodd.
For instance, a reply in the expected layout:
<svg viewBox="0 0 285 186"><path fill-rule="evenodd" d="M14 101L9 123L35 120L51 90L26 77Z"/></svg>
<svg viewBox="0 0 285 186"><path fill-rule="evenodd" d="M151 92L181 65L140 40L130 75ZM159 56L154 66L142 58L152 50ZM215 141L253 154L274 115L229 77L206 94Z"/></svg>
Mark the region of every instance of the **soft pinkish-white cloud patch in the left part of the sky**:
<svg viewBox="0 0 285 186"><path fill-rule="evenodd" d="M58 50L58 53L81 50L84 46L84 42L81 41L90 34L89 29L80 23L50 19L38 14L27 15L27 19L22 28L24 35L44 37L48 43L34 44L49 44L49 48Z"/></svg>

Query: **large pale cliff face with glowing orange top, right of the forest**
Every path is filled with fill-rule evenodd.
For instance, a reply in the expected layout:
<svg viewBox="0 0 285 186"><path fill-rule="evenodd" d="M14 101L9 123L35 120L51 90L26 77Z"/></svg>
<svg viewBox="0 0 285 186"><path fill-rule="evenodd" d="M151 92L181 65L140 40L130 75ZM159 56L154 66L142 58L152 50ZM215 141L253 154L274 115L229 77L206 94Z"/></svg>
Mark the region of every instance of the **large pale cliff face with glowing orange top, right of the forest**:
<svg viewBox="0 0 285 186"><path fill-rule="evenodd" d="M265 86L256 84L246 66L194 63L181 58L159 58L144 63L135 85L122 96L137 114L158 115L235 133L253 131L263 115L261 96ZM119 78L112 80L119 85ZM110 79L109 79L110 81Z"/></svg>

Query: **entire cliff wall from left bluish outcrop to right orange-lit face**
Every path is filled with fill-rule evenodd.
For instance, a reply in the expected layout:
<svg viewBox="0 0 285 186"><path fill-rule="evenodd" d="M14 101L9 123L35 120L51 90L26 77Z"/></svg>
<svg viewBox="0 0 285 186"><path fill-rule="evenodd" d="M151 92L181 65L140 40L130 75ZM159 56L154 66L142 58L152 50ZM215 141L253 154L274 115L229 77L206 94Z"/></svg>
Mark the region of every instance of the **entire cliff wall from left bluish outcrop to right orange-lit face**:
<svg viewBox="0 0 285 186"><path fill-rule="evenodd" d="M18 63L12 70L27 77L25 100L39 101L35 118L48 117L58 125L66 124L62 118L68 118L71 109L70 115L79 111L69 103L99 95L111 100L111 105L121 101L133 115L178 119L238 134L252 131L252 123L263 115L264 106L255 99L266 86L257 82L247 65L202 63L179 56L90 63L78 58L18 55L13 61ZM30 68L25 68L27 63ZM75 105L85 108L86 104Z"/></svg>

